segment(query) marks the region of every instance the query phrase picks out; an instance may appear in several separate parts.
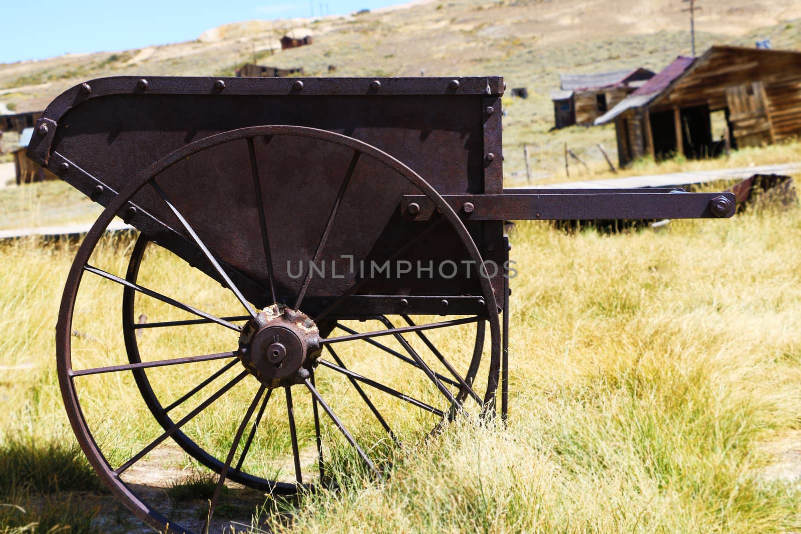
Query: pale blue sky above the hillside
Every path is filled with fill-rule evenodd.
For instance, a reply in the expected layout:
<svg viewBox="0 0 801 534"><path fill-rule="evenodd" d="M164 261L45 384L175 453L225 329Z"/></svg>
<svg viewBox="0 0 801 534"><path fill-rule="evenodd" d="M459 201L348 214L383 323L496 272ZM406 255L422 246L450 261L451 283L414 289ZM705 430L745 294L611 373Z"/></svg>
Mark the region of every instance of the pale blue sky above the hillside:
<svg viewBox="0 0 801 534"><path fill-rule="evenodd" d="M0 2L0 63L191 41L252 18L348 14L406 0L19 0Z"/></svg>

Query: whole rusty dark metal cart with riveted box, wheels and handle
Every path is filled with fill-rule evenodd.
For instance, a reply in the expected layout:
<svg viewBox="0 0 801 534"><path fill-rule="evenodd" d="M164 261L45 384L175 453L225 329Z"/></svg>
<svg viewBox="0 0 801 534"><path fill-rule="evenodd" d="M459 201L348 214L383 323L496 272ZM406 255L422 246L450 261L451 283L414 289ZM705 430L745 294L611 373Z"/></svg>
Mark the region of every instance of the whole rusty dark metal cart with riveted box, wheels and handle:
<svg viewBox="0 0 801 534"><path fill-rule="evenodd" d="M731 194L674 188L504 191L503 90L497 77L117 77L75 86L48 106L28 155L105 207L66 280L57 328L60 387L83 451L132 512L155 528L184 531L163 515L166 505L147 502L125 478L167 439L219 474L211 516L224 480L280 494L323 484L331 447L324 442L340 436L335 431L372 476L383 478L373 447L402 436L379 409L379 397L404 405L430 430L457 412L496 412L500 388L505 418L505 220L734 214ZM138 232L135 244L109 252L103 235L115 217ZM123 266L118 274L93 263L101 249L120 259L111 262ZM147 252L153 249L177 256L218 291L226 288L238 315L215 315L147 287L140 272L148 259L163 278L172 268L160 267L163 254ZM87 283L120 291L114 298L122 322L107 337L119 335L122 363L113 351L100 365L76 363L74 318L99 295L81 303ZM143 323L138 310L148 299L184 315ZM154 357L141 347L143 333L195 327L219 327L227 335L223 350ZM437 346L437 333L442 339L449 331L445 336L457 338L464 353ZM169 351L173 338L165 339ZM191 339L203 343L202 335ZM380 363L385 371L363 375L354 367L358 359L347 367L338 351L348 343L379 351L388 359ZM193 373L200 364L221 367ZM398 365L406 371L392 367ZM183 391L164 392L159 372L166 368L181 370ZM324 387L326 374L352 387L356 401L346 409L361 410L363 418L337 416L344 393ZM132 379L159 430L126 454L109 452L109 425L118 422L103 426L103 413L89 413L87 399L111 391L84 384L104 376ZM233 426L220 422L230 429L227 454L220 453L188 423L243 388L247 401L223 414L233 414ZM283 405L276 397L285 397L279 430L275 420L260 428L271 395L271 404ZM304 432L296 428L300 398L311 408ZM383 435L350 432L366 420ZM268 430L291 445L294 480L249 463ZM306 444L319 477L301 466Z"/></svg>

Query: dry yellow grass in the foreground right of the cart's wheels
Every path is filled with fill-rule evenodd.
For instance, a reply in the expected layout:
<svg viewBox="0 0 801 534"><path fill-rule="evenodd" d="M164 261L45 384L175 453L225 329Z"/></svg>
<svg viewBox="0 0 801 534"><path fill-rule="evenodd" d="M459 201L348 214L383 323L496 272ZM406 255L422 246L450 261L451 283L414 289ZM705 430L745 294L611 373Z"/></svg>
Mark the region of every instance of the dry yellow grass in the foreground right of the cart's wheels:
<svg viewBox="0 0 801 534"><path fill-rule="evenodd" d="M297 532L791 532L755 445L798 428L799 212L512 236L509 428L457 425ZM294 532L294 531L293 531Z"/></svg>

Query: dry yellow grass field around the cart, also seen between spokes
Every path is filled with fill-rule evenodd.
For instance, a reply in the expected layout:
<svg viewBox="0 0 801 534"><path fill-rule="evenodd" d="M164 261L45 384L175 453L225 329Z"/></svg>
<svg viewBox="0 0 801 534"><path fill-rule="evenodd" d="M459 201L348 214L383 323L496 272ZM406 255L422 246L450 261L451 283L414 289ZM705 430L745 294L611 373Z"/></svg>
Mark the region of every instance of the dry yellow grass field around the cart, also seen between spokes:
<svg viewBox="0 0 801 534"><path fill-rule="evenodd" d="M619 235L591 230L570 235L542 223L521 223L510 238L520 275L512 281L508 428L459 420L421 441L425 420L397 404L380 404L409 440L403 448L370 452L394 459L388 484L354 479L348 474L354 464L344 457L339 476L346 477L347 491L319 492L300 504L268 500L253 512L254 530L801 528L797 475L777 476L771 468L779 461L775 455L787 452L777 452L775 444L797 449L792 438L801 435L799 209L674 221L663 231ZM124 263L116 252L125 247L130 243L107 243L98 263L119 272ZM72 524L71 532L133 529L127 512L112 513L111 505L103 504L97 481L87 475L58 393L53 327L73 254L72 247L34 241L2 249L0 395L10 408L0 414L0 468L18 476L5 479L13 484L0 484L0 502L26 512L4 508L0 532L46 532L45 526L59 522ZM175 263L153 254L154 266ZM161 289L185 291L195 302L215 306L210 310L216 313L230 310L221 288L199 291L189 275L169 279L153 268L143 276L161 283ZM117 363L122 355L106 346L119 344L119 295L108 299L102 283L87 284L90 293L76 308L74 357L82 365ZM159 316L158 306L143 306L151 306L149 317ZM168 339L143 336L140 345L155 359L199 350L193 345L201 343L198 339L187 331ZM214 339L210 332L205 343ZM439 342L455 354L464 339ZM343 358L362 366L365 375L385 365L371 354L344 351ZM403 367L394 369L396 384L411 383ZM87 406L103 410L99 428L120 458L157 432L142 401L131 393L131 382L130 376L117 377L83 393ZM173 377L159 383L169 389L179 382ZM375 425L356 423L360 412L349 400L354 397L348 396L347 383L331 379L320 389L342 395L342 418L354 421L356 435L372 436ZM235 413L241 413L235 412L237 399L249 397L234 395L196 422L193 432L205 436L209 450L224 452L230 446ZM297 402L296 410L308 415L308 404ZM276 407L278 421L280 404ZM261 453L254 456L268 460L254 469L291 476L291 464L280 461L288 454L286 432L278 423L269 428ZM308 437L310 428L301 425L299 432ZM331 440L329 453L348 456ZM34 451L33 460L19 463L21 448ZM179 473L191 474L196 467L187 459L176 461L183 469ZM304 465L307 469L313 471L313 462ZM30 474L36 472L58 475ZM202 481L193 484L202 486ZM87 502L101 504L93 508ZM38 530L30 527L37 520L42 521Z"/></svg>

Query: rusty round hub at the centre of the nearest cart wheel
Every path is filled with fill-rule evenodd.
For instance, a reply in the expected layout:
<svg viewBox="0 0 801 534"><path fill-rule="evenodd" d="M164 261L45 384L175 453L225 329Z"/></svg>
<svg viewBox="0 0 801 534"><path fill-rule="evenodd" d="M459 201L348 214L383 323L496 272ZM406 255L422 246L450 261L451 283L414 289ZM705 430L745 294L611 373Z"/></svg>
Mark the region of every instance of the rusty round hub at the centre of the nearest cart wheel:
<svg viewBox="0 0 801 534"><path fill-rule="evenodd" d="M238 356L265 386L291 386L308 378L320 347L320 330L314 321L277 304L264 308L244 326Z"/></svg>

